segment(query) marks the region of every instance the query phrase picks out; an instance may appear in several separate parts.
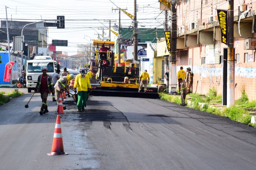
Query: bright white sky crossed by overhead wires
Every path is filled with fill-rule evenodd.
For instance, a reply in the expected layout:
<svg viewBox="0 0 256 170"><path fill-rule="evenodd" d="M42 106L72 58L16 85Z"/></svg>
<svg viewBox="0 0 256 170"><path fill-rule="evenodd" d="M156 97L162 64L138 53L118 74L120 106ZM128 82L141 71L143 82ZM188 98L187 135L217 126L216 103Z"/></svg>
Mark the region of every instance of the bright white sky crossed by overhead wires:
<svg viewBox="0 0 256 170"><path fill-rule="evenodd" d="M114 3L112 3L112 2ZM108 37L109 30L105 26L115 23L118 25L118 7L127 9L134 14L134 1L132 0L3 0L0 4L0 19L6 19L5 6L7 6L8 20L40 21L56 19L57 15L65 16L65 29L49 27L47 43L52 39L68 40L68 47L57 46L57 51L68 52L68 55L77 54L78 44L88 44L91 39L97 39L98 33ZM115 6L116 5L116 6ZM138 27L163 28L164 12L159 9L158 0L137 0ZM105 20L105 21L104 21ZM101 23L100 23L101 22ZM105 26L104 26L105 25ZM122 27L132 26L132 19L121 11ZM101 29L101 30L100 30ZM106 30L105 30L106 29ZM97 35L95 35L97 34ZM112 34L113 36L114 34ZM0 40L1 41L1 40ZM92 42L92 41L91 41Z"/></svg>

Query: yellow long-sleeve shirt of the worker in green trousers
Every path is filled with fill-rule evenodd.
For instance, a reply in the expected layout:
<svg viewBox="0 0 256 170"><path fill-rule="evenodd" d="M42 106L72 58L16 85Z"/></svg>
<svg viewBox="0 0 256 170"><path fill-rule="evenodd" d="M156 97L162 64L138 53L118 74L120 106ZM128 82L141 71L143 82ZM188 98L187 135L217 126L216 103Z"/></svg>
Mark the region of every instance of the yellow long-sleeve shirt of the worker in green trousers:
<svg viewBox="0 0 256 170"><path fill-rule="evenodd" d="M82 78L81 74L77 74L74 82L74 88L77 88L77 91L87 91L88 88L92 89L89 76L84 75L84 78Z"/></svg>

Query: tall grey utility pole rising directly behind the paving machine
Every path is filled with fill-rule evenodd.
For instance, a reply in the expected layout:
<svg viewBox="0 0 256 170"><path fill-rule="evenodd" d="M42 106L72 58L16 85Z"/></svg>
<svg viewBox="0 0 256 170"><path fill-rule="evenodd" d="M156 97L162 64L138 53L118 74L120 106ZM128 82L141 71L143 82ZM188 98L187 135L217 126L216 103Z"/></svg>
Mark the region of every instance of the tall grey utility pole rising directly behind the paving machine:
<svg viewBox="0 0 256 170"><path fill-rule="evenodd" d="M138 33L137 33L137 30L138 30L138 24L137 24L137 1L134 0L134 15L133 15L133 63L138 61Z"/></svg>

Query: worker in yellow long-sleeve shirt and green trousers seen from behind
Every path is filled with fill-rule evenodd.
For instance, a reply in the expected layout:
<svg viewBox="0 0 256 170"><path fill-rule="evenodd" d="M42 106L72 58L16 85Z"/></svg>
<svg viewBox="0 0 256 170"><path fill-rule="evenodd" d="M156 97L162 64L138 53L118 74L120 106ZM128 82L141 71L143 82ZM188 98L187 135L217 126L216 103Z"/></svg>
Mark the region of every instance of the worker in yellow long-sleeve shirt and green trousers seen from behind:
<svg viewBox="0 0 256 170"><path fill-rule="evenodd" d="M74 91L76 92L76 88L78 91L78 101L77 101L77 112L84 111L84 106L86 105L87 99L87 90L90 89L92 92L92 87L90 84L89 76L85 74L85 70L82 69L80 74L76 75L75 83L74 83Z"/></svg>

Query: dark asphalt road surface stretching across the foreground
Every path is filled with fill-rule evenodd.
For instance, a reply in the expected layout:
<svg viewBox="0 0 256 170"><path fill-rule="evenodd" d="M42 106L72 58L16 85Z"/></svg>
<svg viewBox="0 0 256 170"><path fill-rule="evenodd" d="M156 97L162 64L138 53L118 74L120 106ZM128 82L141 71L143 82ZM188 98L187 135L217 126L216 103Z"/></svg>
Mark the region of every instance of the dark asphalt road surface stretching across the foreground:
<svg viewBox="0 0 256 170"><path fill-rule="evenodd" d="M38 93L0 106L0 169L245 170L256 167L256 130L159 99L90 96L85 112L65 99L64 150L48 156L56 102L40 116Z"/></svg>

